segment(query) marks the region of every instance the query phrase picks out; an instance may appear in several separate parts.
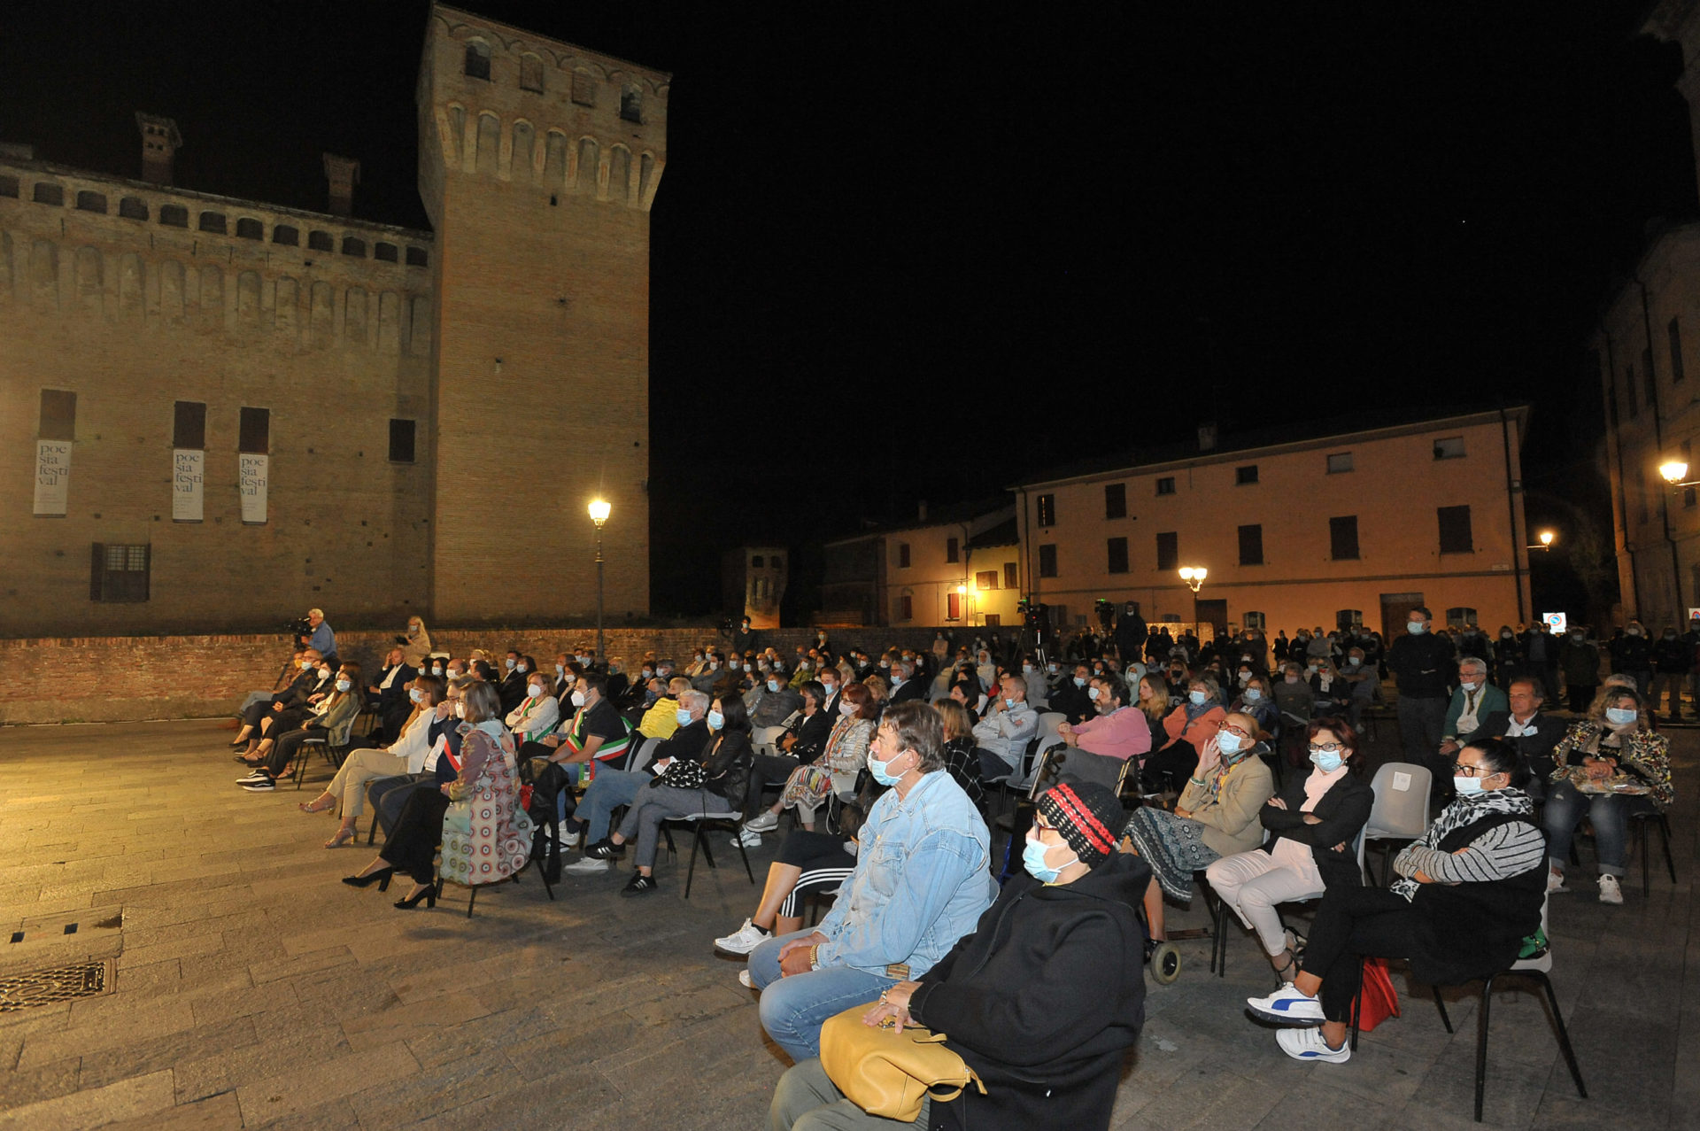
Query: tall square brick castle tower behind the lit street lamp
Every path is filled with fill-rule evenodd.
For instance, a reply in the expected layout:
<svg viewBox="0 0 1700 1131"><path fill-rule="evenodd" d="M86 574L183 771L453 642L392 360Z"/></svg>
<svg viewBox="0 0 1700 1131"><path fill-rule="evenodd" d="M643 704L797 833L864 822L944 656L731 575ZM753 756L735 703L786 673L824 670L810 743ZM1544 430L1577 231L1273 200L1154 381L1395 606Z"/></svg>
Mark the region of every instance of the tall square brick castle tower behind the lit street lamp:
<svg viewBox="0 0 1700 1131"><path fill-rule="evenodd" d="M432 611L649 607L649 206L668 75L434 5L420 196L437 230Z"/></svg>

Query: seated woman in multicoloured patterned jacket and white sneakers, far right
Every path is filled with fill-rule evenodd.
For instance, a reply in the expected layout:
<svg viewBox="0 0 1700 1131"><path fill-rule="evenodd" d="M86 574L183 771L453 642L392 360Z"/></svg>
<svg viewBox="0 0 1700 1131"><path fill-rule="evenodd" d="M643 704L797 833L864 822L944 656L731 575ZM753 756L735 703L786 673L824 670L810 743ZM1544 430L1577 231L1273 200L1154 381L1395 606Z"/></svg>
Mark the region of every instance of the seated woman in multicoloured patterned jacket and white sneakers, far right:
<svg viewBox="0 0 1700 1131"><path fill-rule="evenodd" d="M1669 740L1652 730L1646 702L1630 687L1608 687L1588 718L1571 725L1552 757L1557 767L1542 813L1547 825L1547 891L1569 891L1564 866L1586 816L1600 854L1600 901L1622 903L1618 878L1629 854L1629 818L1663 813L1674 799Z"/></svg>

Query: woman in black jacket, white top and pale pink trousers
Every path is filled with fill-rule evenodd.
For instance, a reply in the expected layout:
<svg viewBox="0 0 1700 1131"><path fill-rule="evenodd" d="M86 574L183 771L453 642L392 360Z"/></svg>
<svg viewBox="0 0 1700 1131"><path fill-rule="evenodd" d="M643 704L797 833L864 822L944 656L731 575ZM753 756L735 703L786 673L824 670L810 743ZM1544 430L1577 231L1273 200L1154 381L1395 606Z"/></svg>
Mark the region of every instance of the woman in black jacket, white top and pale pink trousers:
<svg viewBox="0 0 1700 1131"><path fill-rule="evenodd" d="M1375 804L1375 791L1357 772L1357 733L1340 719L1312 719L1309 731L1311 772L1289 774L1280 796L1258 815L1273 838L1204 871L1222 903L1258 934L1282 981L1292 981L1299 968L1295 937L1275 907L1363 883L1353 840Z"/></svg>

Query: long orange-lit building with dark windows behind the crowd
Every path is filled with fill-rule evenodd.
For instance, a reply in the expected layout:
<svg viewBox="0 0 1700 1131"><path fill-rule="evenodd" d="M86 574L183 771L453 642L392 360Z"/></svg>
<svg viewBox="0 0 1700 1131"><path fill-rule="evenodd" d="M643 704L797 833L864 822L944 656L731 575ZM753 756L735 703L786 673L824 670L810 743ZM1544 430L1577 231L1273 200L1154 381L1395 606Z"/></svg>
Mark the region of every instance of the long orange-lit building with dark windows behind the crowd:
<svg viewBox="0 0 1700 1131"><path fill-rule="evenodd" d="M1025 483L1028 597L1057 628L1086 624L1098 599L1209 631L1386 633L1418 604L1455 624L1527 622L1527 408L1462 413ZM1207 570L1197 594L1183 566Z"/></svg>

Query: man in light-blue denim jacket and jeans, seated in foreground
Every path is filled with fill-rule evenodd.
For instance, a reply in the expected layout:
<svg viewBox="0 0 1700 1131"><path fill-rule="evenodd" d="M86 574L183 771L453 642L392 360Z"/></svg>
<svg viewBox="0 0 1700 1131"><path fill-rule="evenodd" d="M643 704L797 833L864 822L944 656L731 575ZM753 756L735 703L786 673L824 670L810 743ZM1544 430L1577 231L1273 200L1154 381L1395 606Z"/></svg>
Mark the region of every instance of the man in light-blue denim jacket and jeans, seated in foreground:
<svg viewBox="0 0 1700 1131"><path fill-rule="evenodd" d="M945 772L937 711L891 704L867 764L891 789L862 825L833 910L818 929L750 952L762 1027L794 1061L819 1054L828 1017L932 969L998 893L986 821Z"/></svg>

